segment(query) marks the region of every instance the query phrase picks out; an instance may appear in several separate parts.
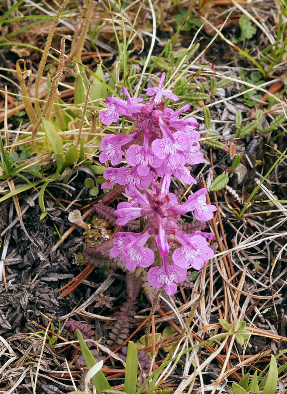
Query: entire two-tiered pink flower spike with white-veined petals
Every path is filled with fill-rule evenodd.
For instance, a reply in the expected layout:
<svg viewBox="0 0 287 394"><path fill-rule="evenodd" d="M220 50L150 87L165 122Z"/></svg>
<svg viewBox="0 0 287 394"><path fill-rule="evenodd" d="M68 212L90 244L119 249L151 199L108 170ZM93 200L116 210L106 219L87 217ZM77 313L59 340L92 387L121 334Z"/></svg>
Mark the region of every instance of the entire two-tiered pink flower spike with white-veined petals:
<svg viewBox="0 0 287 394"><path fill-rule="evenodd" d="M195 219L208 221L216 207L206 204L204 188L189 195L181 204L174 193L169 193L171 175L188 184L196 183L188 166L202 162L203 155L198 152L197 121L193 117L179 118L189 105L176 112L166 108L163 97L173 100L178 97L171 90L163 89L164 79L163 73L157 87L146 89L148 95L154 95L148 103L131 98L124 87L127 100L106 99L107 110L99 113L102 123L107 125L124 116L134 122L135 128L128 135L103 137L99 159L101 162L109 159L118 165L125 154L130 166L109 167L104 173L110 182L103 184L103 188L115 183L126 185L126 194L131 197L129 202L119 203L114 211L118 217L116 224L125 226L139 217L144 217L145 223L141 233L115 234L111 256L120 256L130 271L137 266L152 266L148 271L150 284L155 288L165 285L165 292L174 294L176 282L186 279L189 266L201 269L204 261L213 257L206 241L213 235L201 231L185 234L178 228L178 220L182 214L192 211ZM158 176L162 177L161 188L156 184ZM138 189L145 191L141 193Z"/></svg>

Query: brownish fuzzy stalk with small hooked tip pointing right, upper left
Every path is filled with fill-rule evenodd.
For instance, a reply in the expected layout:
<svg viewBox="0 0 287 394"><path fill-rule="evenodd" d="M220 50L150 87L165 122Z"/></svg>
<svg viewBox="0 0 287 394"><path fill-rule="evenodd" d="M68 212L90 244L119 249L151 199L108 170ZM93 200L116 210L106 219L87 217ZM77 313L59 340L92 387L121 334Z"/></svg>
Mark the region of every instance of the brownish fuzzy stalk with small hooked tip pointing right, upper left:
<svg viewBox="0 0 287 394"><path fill-rule="evenodd" d="M58 84L60 82L60 78L62 76L62 72L64 69L64 54L65 54L65 40L66 39L71 40L71 36L66 35L66 36L62 37L62 39L61 39L59 64L58 64L58 67L56 70L56 74L51 82L51 90L48 95L47 102L45 104L43 112L41 113L41 117L37 121L36 125L34 126L34 128L32 130L32 145L34 147L35 147L35 137L37 135L38 128L41 125L41 121L42 121L41 118L44 117L48 121L51 118L52 108L53 108L53 105L54 105L54 102L56 99L56 95L57 95Z"/></svg>

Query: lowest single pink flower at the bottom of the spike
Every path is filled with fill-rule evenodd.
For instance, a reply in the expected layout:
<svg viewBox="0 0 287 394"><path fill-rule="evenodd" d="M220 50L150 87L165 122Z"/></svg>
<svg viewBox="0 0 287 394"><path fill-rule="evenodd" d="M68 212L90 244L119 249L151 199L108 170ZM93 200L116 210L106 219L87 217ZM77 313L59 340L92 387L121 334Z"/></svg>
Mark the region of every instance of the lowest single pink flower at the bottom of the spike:
<svg viewBox="0 0 287 394"><path fill-rule="evenodd" d="M169 265L166 256L163 256L162 267L152 267L148 271L148 282L155 288L165 285L166 294L174 294L177 290L177 284L186 279L187 269L181 268L174 264Z"/></svg>

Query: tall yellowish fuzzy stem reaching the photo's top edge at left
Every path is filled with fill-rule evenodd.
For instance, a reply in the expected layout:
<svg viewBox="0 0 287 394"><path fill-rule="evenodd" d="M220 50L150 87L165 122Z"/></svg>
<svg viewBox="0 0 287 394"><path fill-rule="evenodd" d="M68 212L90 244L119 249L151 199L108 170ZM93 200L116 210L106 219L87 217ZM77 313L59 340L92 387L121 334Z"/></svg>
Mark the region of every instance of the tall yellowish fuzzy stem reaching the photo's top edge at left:
<svg viewBox="0 0 287 394"><path fill-rule="evenodd" d="M64 11L64 9L67 6L68 2L69 2L69 0L64 0L62 2L62 4L60 5L60 8L58 9L58 12L56 13L56 15L55 15L55 17L53 19L53 22L52 22L52 25L51 25L51 29L50 29L49 35L47 37L47 41L45 43L44 51L43 51L43 54L42 54L42 57L41 57L41 61L40 61L40 64L39 64L37 76L36 76L36 79L35 79L35 99L38 99L38 97L39 97L40 80L41 80L41 76L42 76L42 73L43 73L46 61L47 61L48 53L49 53L50 46L51 46L51 43L52 43L52 40L53 40L53 37L54 37L56 26L58 24L60 15ZM37 115L40 117L40 115L41 115L41 108L40 108L40 104L39 104L39 102L37 100L35 101L35 108L36 108Z"/></svg>

